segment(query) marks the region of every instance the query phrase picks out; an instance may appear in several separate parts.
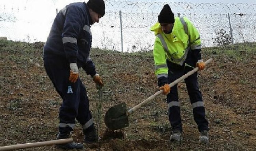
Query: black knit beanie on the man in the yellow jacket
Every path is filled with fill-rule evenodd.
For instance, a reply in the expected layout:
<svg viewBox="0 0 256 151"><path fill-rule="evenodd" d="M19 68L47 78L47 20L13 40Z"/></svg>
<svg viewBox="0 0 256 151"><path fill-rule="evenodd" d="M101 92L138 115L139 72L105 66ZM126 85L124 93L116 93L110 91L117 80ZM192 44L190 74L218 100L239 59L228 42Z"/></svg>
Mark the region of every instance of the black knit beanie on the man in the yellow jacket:
<svg viewBox="0 0 256 151"><path fill-rule="evenodd" d="M168 4L163 6L160 14L158 15L159 23L174 23L174 14Z"/></svg>

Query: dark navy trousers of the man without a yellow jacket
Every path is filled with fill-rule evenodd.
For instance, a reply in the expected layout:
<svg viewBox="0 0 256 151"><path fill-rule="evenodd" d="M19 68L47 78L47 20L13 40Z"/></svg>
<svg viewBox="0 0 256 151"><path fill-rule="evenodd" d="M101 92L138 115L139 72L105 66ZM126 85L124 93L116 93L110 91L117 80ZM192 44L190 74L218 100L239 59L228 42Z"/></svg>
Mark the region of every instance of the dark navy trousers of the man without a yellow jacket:
<svg viewBox="0 0 256 151"><path fill-rule="evenodd" d="M67 60L60 57L45 58L44 66L54 87L63 100L59 110L59 130L72 131L75 119L82 126L92 121L86 88L80 78L75 83L69 81L70 69Z"/></svg>

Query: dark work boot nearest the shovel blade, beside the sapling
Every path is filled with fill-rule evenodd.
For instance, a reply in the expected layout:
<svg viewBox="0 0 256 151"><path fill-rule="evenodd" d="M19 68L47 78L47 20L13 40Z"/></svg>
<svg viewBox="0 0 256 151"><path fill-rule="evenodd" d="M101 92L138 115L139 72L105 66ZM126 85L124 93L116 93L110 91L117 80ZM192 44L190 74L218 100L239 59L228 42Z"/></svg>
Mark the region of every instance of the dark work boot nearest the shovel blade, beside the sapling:
<svg viewBox="0 0 256 151"><path fill-rule="evenodd" d="M83 133L85 135L84 143L94 143L98 140L94 124L87 128L86 130L83 130Z"/></svg>

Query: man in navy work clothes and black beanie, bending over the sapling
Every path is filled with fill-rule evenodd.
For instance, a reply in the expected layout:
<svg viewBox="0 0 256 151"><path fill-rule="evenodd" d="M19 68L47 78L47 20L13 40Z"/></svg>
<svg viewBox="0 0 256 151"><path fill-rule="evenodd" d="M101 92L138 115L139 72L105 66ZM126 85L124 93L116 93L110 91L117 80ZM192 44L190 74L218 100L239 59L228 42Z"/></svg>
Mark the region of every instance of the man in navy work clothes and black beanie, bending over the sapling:
<svg viewBox="0 0 256 151"><path fill-rule="evenodd" d="M94 121L89 110L86 88L79 78L79 68L89 74L97 88L103 86L90 58L90 26L105 14L103 0L87 3L71 3L65 6L53 22L43 49L44 67L47 75L63 102L59 110L59 133L57 139L69 138L75 119L82 125L84 142L97 141ZM83 144L56 145L61 149L82 149Z"/></svg>

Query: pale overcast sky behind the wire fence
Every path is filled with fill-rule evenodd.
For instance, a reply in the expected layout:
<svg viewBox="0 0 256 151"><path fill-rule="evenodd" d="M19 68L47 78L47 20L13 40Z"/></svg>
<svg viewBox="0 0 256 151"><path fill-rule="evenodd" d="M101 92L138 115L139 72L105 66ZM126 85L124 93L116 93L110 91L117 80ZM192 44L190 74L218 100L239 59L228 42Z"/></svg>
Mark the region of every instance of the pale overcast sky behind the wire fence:
<svg viewBox="0 0 256 151"><path fill-rule="evenodd" d="M8 37L8 39L11 39L11 40L19 40L19 41L26 41L26 42L46 41L49 30L51 28L52 21L56 16L56 8L59 11L66 4L69 4L72 2L82 2L82 1L87 2L88 0L0 0L0 36L6 36ZM106 8L110 10L110 11L108 10L109 12L112 13L111 8L114 6L115 11L117 11L118 13L112 13L111 15L106 14L106 16L101 20L100 22L101 24L96 24L92 27L92 32L95 37L93 39L94 46L98 46L98 44L102 44L102 43L103 44L113 43L115 45L118 45L118 48L120 48L120 42L119 42L120 38L117 38L117 37L120 37L119 10L118 10L120 9L124 14L127 13L127 10L128 11L138 10L139 12L146 13L142 16L140 15L136 15L136 17L133 16L132 18L130 18L129 15L123 15L123 30L124 30L123 36L124 36L124 41L126 40L126 42L124 43L128 45L126 46L126 48L128 47L130 48L131 45L134 45L134 43L138 45L142 45L141 38L140 37L134 38L134 37L141 34L145 34L147 36L144 35L145 38L143 38L144 40L143 42L145 43L145 47L148 47L147 46L148 43L150 44L153 43L152 42L153 38L148 36L149 34L151 34L151 32L148 29L148 26L152 25L157 19L156 17L157 14L154 14L152 12L155 12L155 13L160 12L162 6L159 6L159 5L164 5L165 3L172 3L172 2L173 3L186 2L183 4L181 3L174 4L175 7L173 6L173 9L172 9L174 13L176 14L183 13L182 15L184 16L192 14L192 16L190 17L193 17L193 14L198 14L197 13L198 11L200 12L199 14L204 14L205 12L207 12L208 14L222 14L222 16L219 16L219 15L212 16L210 20L209 20L209 16L208 18L204 16L197 16L196 18L195 17L193 18L193 22L195 23L195 25L199 27L201 26L201 24L203 24L204 26L210 24L211 26L214 26L216 28L224 26L227 29L227 32L229 31L229 29L226 27L228 26L227 24L228 20L225 14L245 13L247 15L241 19L239 18L240 21L234 21L233 19L234 15L231 16L231 21L233 21L232 25L237 29L237 31L235 29L233 29L233 31L235 32L236 35L241 35L240 33L243 33L243 36L244 35L255 36L254 29L255 29L256 20L252 18L254 18L253 16L255 16L255 12L256 12L256 0L105 0L105 1L108 1L109 5ZM147 2L149 6L143 5L143 3L131 5L129 2ZM160 2L160 3L155 3L155 2ZM244 3L244 2L246 3L236 4L236 3ZM195 5L190 5L187 3L192 3L192 4L194 3ZM208 4L201 4L201 3L208 3ZM209 3L217 3L217 4L209 4ZM229 4L226 5L226 3L229 3ZM132 9L129 9L129 7L132 7ZM233 9L236 9L236 10L233 10ZM153 16L151 14L153 14ZM250 16L250 14L253 14L253 15ZM189 17L189 16L186 16L186 17ZM246 17L247 19L250 19L250 20L247 21ZM5 21L6 19L8 21ZM143 21L141 21L142 19ZM245 20L242 20L242 19L245 19ZM136 21L140 20L140 22L136 22L136 23L139 23L139 25L132 22L134 20ZM218 20L218 23L216 25L214 20ZM240 26L245 26L245 23L248 24L246 26L249 26L253 30L242 31L242 27ZM110 25L114 25L115 28L108 29ZM138 30L142 30L141 27L145 27L145 26L147 28L145 30L143 29L144 30L143 32L135 31L137 30L137 28L132 28L132 34L134 35L131 36L130 33L128 32L129 27L131 25L133 27L135 26L138 27ZM204 26L203 28L201 27L202 29L201 31L212 29L212 27L204 28ZM212 31L208 31L208 33L210 33L211 35L215 34ZM206 34L203 34L203 35L206 37L205 41L207 40L207 38L209 40L209 37L210 37L209 35L206 35ZM154 35L152 34L152 36ZM241 38L238 37L237 39L240 40ZM252 39L255 39L255 37L252 38L247 36L247 39L252 40ZM211 38L209 41L212 43ZM110 48L113 48L113 47L110 46Z"/></svg>

